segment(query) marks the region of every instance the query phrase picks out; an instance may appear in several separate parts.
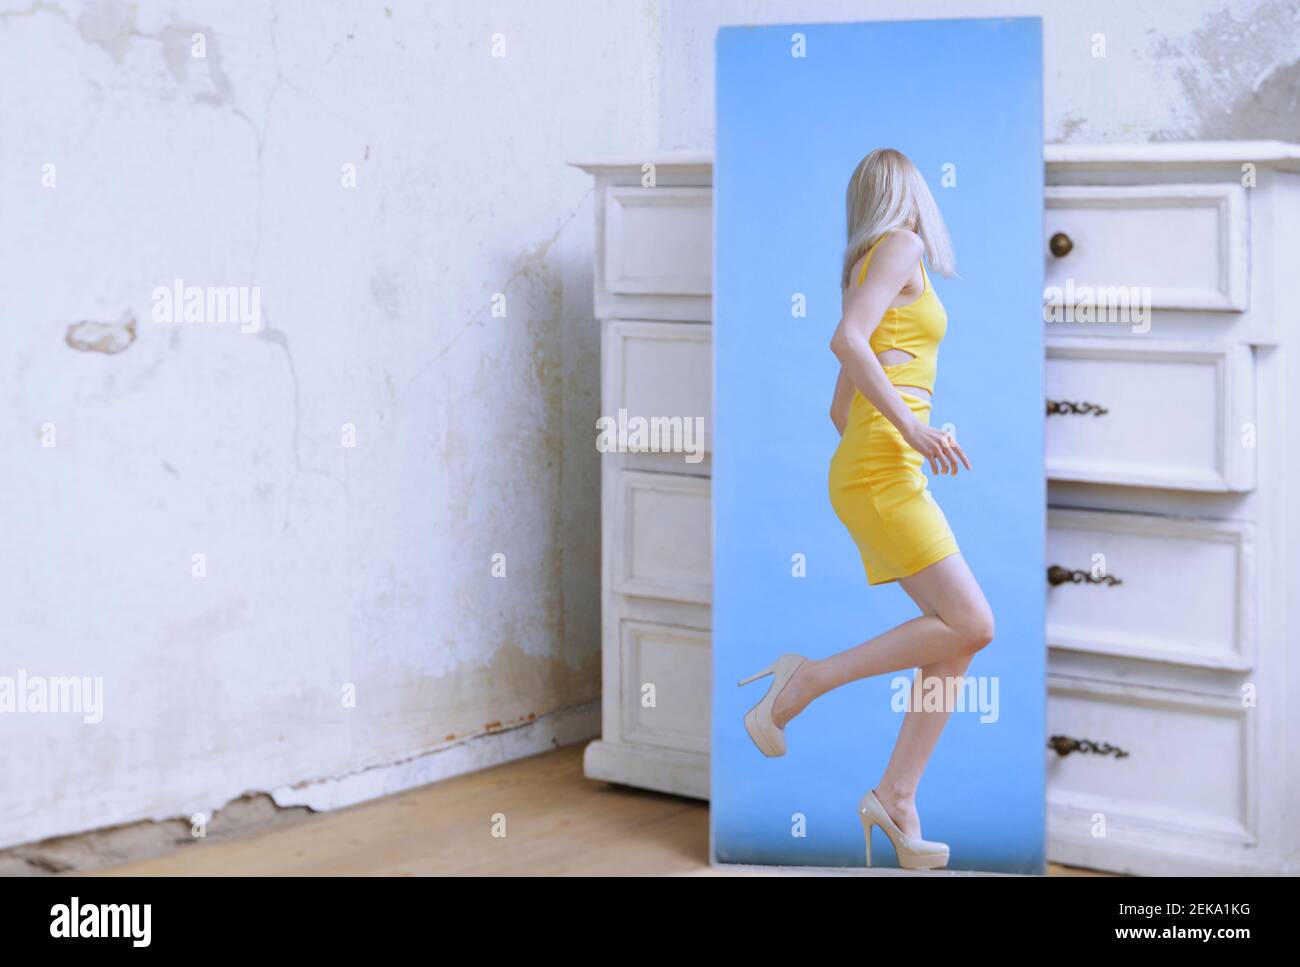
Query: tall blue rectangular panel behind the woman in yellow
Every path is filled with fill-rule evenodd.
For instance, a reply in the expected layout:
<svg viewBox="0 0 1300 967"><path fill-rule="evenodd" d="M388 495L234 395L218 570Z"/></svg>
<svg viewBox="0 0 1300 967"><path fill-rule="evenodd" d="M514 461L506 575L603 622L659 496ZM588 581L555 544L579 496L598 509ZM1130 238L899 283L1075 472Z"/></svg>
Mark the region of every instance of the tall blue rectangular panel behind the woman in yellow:
<svg viewBox="0 0 1300 967"><path fill-rule="evenodd" d="M790 53L796 32L806 57ZM771 680L736 685L781 652L822 658L918 613L897 585L868 587L827 494L844 192L867 152L893 147L953 235L959 278L931 273L949 317L931 422L958 428L974 472L930 487L997 625L968 671L987 697L997 689L996 720L952 716L918 808L924 836L950 845L948 868L1041 872L1040 21L724 27L716 58L714 855L863 866L857 805L902 721L894 676L855 681L814 702L789 725L789 753L766 759L742 716ZM956 187L941 185L945 165ZM806 318L792 317L796 292ZM893 864L879 832L875 845L876 864Z"/></svg>

